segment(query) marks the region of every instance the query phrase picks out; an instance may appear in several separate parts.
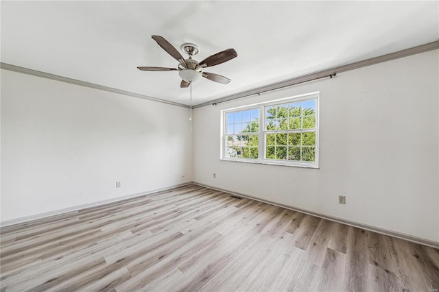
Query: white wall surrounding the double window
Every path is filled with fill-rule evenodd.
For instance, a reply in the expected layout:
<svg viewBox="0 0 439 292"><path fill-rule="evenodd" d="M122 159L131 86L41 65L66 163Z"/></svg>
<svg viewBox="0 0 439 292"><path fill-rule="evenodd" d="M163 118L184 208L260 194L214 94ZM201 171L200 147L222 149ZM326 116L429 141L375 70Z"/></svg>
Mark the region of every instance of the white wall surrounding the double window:
<svg viewBox="0 0 439 292"><path fill-rule="evenodd" d="M220 110L315 91L320 169L219 160ZM198 108L194 181L439 242L438 97L436 50Z"/></svg>

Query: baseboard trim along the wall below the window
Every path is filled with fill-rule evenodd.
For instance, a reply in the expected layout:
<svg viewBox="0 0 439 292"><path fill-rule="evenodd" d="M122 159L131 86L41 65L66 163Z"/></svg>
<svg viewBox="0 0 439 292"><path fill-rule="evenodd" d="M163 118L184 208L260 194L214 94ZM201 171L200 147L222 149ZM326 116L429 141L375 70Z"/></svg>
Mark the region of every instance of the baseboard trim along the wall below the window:
<svg viewBox="0 0 439 292"><path fill-rule="evenodd" d="M350 220L346 220L346 219L342 219L342 218L338 218L338 217L333 217L333 216L330 216L330 215L325 215L325 214L321 214L321 213L318 213L318 212L313 212L311 210L305 210L305 209L301 209L301 208L295 208L293 206L287 206L287 205L284 205L284 204L278 204L278 203L271 202L271 201L266 200L266 199L259 199L257 197L252 197L251 195L246 195L246 194L243 194L243 193L237 193L237 192L234 192L234 191L226 190L224 188L217 188L215 186L209 186L208 184L202 184L200 182L192 182L192 183L196 184L198 186L204 186L205 188L211 188L211 189L216 190L216 191L222 191L224 193L230 193L231 195L237 195L237 196L240 196L240 197L246 197L248 199L254 199L255 201L271 204L271 205L274 205L274 206L279 206L279 207L282 207L282 208L285 208L285 209L288 209L288 210L302 212L302 213L305 213L305 214L308 214L308 215L312 215L312 216L316 216L316 217L319 217L319 218L322 218L322 219L327 219L329 221L334 221L334 222L346 224L348 226L353 226L353 227L361 228L361 229L364 229L364 230L369 230L369 231L372 231L372 232L377 232L379 234L384 234L384 235L392 236L392 237L395 237L397 239L403 239L405 241L411 241L413 243L418 243L420 245L427 245L429 247L434 247L436 249L439 249L439 242L431 241L429 239L423 239L423 238L420 238L420 237L417 237L417 236L412 236L412 235L409 235L409 234L404 234L404 233L396 232L396 231L393 231L393 230L387 230L387 229L384 229L384 228L379 228L377 226L370 226L370 225L359 223L359 222L355 222L355 221L350 221Z"/></svg>

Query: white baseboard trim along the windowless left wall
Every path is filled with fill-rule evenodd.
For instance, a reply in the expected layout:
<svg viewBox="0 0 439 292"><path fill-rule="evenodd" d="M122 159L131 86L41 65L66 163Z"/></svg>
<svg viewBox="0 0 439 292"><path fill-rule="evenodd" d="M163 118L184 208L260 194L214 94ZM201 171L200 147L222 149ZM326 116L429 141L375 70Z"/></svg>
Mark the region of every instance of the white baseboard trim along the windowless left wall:
<svg viewBox="0 0 439 292"><path fill-rule="evenodd" d="M75 211L86 209L86 208L91 208L91 207L95 207L95 206L102 206L102 205L105 205L105 204L111 204L111 203L123 201L124 199L130 199L132 197L140 197L142 195L151 195L153 193L158 193L158 192L161 192L161 191L168 191L168 190L170 190L172 188L178 188L180 186L187 186L189 184L193 184L193 182L185 182L185 183L182 183L182 184L176 184L176 185L173 185L173 186L168 186L166 188L154 189L152 191L145 191L145 192L141 192L141 193L133 193L133 194L130 194L130 195L123 195L121 197L113 197L111 199L104 199L104 200L100 200L100 201L96 201L96 202L91 202L91 203L87 203L87 204L71 206L69 208L62 208L62 209L58 209L58 210L38 213L38 214L35 214L35 215L29 215L29 216L25 216L25 217L19 217L19 218L15 218L15 219L0 221L0 228L1 227L5 227L5 226L11 226L11 225L14 225L14 224L19 224L19 223L25 223L27 221L43 219L43 218L51 217L51 216L55 216L55 215L62 215L62 214L67 213L67 212L75 212Z"/></svg>

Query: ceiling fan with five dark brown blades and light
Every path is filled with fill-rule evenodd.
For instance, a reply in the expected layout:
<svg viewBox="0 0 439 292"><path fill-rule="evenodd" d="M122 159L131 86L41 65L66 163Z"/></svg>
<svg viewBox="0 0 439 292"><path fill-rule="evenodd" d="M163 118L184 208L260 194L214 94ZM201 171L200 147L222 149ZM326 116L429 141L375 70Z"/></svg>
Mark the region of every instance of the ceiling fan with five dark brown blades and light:
<svg viewBox="0 0 439 292"><path fill-rule="evenodd" d="M141 66L137 67L137 69L143 71L178 71L178 75L180 75L182 78L180 84L181 88L189 87L192 82L199 80L200 77L204 77L222 84L228 84L228 82L230 82L230 79L227 77L214 73L203 72L202 69L227 62L228 60L232 60L233 58L237 57L238 54L235 49L226 49L224 51L220 51L219 53L215 53L215 55L207 57L201 62L197 62L192 59L192 56L200 53L200 49L197 45L193 45L191 43L181 45L182 51L185 51L185 53L189 55L189 58L185 59L183 56L181 56L177 49L162 36L152 36L152 38L158 43L159 46L167 51L169 55L178 61L178 69L151 66Z"/></svg>

